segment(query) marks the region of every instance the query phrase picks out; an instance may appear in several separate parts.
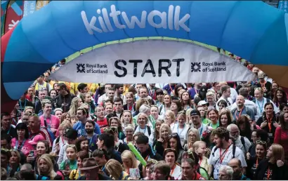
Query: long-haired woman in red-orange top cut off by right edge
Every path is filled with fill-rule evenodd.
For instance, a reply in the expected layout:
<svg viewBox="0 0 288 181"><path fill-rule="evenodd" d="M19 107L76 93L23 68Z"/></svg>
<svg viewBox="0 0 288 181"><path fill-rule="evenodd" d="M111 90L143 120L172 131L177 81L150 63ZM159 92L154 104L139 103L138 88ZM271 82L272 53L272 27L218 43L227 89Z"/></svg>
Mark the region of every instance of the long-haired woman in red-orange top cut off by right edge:
<svg viewBox="0 0 288 181"><path fill-rule="evenodd" d="M282 145L285 154L285 161L288 161L288 112L280 114L280 126L275 130L274 143Z"/></svg>

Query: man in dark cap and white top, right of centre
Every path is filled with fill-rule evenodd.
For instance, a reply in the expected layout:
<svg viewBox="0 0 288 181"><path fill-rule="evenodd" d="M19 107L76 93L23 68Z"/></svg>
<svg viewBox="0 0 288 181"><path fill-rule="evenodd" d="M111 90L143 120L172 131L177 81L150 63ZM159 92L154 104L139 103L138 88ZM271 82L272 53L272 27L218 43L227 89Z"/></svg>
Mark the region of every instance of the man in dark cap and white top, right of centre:
<svg viewBox="0 0 288 181"><path fill-rule="evenodd" d="M192 121L192 125L190 126L190 128L196 128L199 131L200 138L202 138L202 133L204 131L211 130L211 127L202 123L201 114L197 109L192 109L192 111L190 112L190 119ZM186 140L188 140L188 133L189 133L189 130L187 131L187 134L186 134Z"/></svg>

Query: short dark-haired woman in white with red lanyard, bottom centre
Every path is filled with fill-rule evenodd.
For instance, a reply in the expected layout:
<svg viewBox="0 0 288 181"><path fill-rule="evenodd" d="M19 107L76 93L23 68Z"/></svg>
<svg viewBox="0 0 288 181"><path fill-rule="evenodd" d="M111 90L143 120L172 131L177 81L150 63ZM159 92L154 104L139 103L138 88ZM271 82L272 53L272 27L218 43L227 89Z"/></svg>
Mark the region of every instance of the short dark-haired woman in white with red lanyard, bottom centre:
<svg viewBox="0 0 288 181"><path fill-rule="evenodd" d="M177 152L176 149L173 148L167 148L164 150L163 153L164 161L170 166L170 176L174 178L174 180L177 180L178 177L181 176L181 167L178 166L177 160Z"/></svg>

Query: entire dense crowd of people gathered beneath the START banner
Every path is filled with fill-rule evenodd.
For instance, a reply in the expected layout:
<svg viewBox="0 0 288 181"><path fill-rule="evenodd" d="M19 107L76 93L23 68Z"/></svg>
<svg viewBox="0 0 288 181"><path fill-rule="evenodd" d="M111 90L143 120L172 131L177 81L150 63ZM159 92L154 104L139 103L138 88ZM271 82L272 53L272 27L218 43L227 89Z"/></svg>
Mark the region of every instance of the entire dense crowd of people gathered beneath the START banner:
<svg viewBox="0 0 288 181"><path fill-rule="evenodd" d="M287 180L287 94L246 64L257 81L72 83L45 72L1 114L1 180Z"/></svg>

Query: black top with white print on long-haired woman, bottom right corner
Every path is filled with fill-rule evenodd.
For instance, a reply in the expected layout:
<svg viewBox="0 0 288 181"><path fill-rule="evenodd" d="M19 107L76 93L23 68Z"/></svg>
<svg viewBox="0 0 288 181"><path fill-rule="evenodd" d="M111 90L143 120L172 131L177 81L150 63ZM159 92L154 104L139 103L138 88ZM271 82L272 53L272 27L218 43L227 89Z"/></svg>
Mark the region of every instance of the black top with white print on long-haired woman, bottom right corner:
<svg viewBox="0 0 288 181"><path fill-rule="evenodd" d="M254 175L254 180L263 180L268 167L272 170L271 180L288 180L288 166L286 163L284 163L284 166L277 167L276 164L269 163L268 161L268 159L263 159L259 163Z"/></svg>

